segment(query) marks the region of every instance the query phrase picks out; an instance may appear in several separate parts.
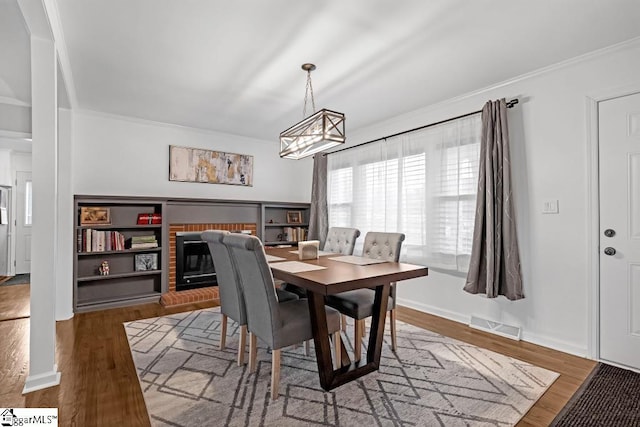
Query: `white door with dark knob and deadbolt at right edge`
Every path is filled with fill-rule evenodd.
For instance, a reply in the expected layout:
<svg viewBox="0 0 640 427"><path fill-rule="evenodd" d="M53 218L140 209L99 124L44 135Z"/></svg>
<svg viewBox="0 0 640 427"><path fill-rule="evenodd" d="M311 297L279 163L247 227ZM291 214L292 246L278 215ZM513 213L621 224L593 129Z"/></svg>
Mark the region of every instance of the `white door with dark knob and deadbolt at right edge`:
<svg viewBox="0 0 640 427"><path fill-rule="evenodd" d="M600 359L640 369L640 93L598 114Z"/></svg>

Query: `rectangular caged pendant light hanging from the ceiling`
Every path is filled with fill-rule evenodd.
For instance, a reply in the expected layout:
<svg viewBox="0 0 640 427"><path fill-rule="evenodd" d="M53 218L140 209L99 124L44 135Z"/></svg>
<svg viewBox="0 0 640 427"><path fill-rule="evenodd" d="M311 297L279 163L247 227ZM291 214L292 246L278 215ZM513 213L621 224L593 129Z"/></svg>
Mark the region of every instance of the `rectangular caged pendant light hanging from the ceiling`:
<svg viewBox="0 0 640 427"><path fill-rule="evenodd" d="M280 157L295 160L343 144L346 140L344 114L325 108L316 112L313 86L311 84L311 71L315 70L316 66L314 64L302 64L302 69L307 72L307 86L302 109L303 119L280 133ZM306 117L309 93L311 93L313 114Z"/></svg>

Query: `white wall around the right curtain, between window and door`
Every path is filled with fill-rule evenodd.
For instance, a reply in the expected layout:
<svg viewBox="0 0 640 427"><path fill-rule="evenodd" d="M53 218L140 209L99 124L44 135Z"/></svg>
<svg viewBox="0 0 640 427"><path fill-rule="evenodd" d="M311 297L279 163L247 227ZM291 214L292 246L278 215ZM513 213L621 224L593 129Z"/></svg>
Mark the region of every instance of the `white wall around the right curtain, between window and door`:
<svg viewBox="0 0 640 427"><path fill-rule="evenodd" d="M357 144L479 110L488 99L520 100L508 119L526 298L510 302L467 294L464 278L430 271L400 284L399 303L464 322L476 314L519 325L527 341L588 355L586 96L639 82L636 40L350 135L349 143ZM558 215L541 213L547 199L559 200Z"/></svg>

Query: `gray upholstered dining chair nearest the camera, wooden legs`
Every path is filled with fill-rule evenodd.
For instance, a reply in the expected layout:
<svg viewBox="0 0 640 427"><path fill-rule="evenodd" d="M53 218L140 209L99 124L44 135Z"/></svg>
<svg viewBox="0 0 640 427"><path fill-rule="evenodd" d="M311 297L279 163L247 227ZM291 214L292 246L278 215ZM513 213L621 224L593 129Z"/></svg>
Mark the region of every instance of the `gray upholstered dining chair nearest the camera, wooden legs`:
<svg viewBox="0 0 640 427"><path fill-rule="evenodd" d="M271 348L271 399L278 397L280 352L284 347L313 337L309 305L306 300L278 301L273 275L262 242L255 236L227 234L222 239L237 266L240 286L247 307L249 370L256 369L257 338ZM340 364L340 314L327 311L327 328L333 336L336 366Z"/></svg>

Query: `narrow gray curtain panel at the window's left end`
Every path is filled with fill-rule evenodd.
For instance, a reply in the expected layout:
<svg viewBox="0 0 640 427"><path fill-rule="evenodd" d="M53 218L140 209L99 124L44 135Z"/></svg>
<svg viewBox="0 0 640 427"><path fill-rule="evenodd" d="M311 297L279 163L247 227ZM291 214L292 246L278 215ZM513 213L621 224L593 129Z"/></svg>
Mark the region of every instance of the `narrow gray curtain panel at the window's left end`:
<svg viewBox="0 0 640 427"><path fill-rule="evenodd" d="M329 231L329 209L327 207L327 156L313 156L313 182L311 183L311 208L309 212L309 240L320 240L320 247Z"/></svg>

